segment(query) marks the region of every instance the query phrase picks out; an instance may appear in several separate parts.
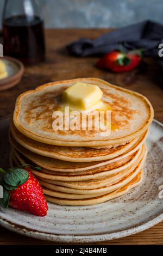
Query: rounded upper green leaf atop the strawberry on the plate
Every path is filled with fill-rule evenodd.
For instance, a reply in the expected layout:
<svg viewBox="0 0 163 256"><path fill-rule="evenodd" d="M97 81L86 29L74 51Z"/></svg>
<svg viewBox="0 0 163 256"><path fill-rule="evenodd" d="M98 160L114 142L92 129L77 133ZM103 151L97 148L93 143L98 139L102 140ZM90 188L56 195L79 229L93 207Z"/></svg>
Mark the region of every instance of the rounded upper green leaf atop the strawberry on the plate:
<svg viewBox="0 0 163 256"><path fill-rule="evenodd" d="M27 170L22 168L13 168L4 174L3 180L9 186L15 187L24 184L28 180L28 177L29 174Z"/></svg>

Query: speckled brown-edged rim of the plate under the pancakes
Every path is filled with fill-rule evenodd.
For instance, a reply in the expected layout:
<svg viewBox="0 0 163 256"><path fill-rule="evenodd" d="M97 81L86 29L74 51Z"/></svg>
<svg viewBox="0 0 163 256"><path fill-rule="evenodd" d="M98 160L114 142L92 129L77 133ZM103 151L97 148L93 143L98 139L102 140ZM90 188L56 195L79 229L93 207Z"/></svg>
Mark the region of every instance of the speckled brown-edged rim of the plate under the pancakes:
<svg viewBox="0 0 163 256"><path fill-rule="evenodd" d="M159 121L154 119L153 122L163 128L163 124L161 124ZM59 235L59 234L41 232L41 231L38 231L35 229L29 229L23 225L14 224L14 223L9 222L8 220L5 220L4 218L0 217L0 225L4 228L11 230L11 231L14 231L15 233L33 237L36 239L41 239L41 240L48 240L48 241L54 241L54 242L67 242L67 243L99 242L99 241L118 239L121 237L133 235L133 234L139 233L143 230L146 230L148 228L151 228L155 224L158 224L161 221L163 221L163 213L154 215L152 220L142 222L142 224L135 225L135 227L121 230L121 231L116 231L113 233L104 233L104 234L99 234L99 235L92 235L92 234L91 235Z"/></svg>

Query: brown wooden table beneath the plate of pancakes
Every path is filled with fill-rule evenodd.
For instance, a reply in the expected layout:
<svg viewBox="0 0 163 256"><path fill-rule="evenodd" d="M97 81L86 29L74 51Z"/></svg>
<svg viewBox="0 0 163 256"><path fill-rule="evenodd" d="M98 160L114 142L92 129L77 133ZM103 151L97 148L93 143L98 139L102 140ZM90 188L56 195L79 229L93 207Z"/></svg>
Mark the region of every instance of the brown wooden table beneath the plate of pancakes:
<svg viewBox="0 0 163 256"><path fill-rule="evenodd" d="M153 60L146 60L145 70L113 74L95 67L98 58L69 56L65 45L80 37L96 38L106 29L54 29L46 31L47 58L45 63L29 66L22 81L14 88L0 92L0 117L14 110L16 97L40 84L78 77L98 77L110 83L135 90L152 102L155 119L163 123L163 93L157 79L157 68ZM54 245L53 242L30 239L0 227L0 245ZM158 245L163 244L163 222L142 233L97 243L100 245Z"/></svg>

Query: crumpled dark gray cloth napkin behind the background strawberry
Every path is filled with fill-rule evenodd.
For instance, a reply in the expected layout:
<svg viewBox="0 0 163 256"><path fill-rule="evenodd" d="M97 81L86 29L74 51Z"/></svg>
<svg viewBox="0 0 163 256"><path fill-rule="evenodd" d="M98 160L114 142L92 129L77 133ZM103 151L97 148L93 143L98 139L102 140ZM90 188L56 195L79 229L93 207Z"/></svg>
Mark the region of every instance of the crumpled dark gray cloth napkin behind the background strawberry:
<svg viewBox="0 0 163 256"><path fill-rule="evenodd" d="M158 57L158 45L163 42L163 26L153 21L143 21L106 33L95 40L82 38L67 45L70 54L76 56L101 56L120 48L124 51L145 49L145 56Z"/></svg>

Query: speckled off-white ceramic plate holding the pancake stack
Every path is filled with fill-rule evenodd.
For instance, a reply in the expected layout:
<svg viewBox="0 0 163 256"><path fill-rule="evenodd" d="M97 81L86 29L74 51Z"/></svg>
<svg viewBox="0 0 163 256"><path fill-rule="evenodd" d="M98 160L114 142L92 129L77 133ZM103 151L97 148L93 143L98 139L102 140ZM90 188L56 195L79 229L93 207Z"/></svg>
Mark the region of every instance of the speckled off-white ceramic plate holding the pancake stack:
<svg viewBox="0 0 163 256"><path fill-rule="evenodd" d="M9 117L0 120L1 167L7 167ZM147 139L145 175L122 197L91 206L49 203L46 217L0 210L0 224L12 231L56 242L98 242L138 233L163 220L163 125L154 120Z"/></svg>

